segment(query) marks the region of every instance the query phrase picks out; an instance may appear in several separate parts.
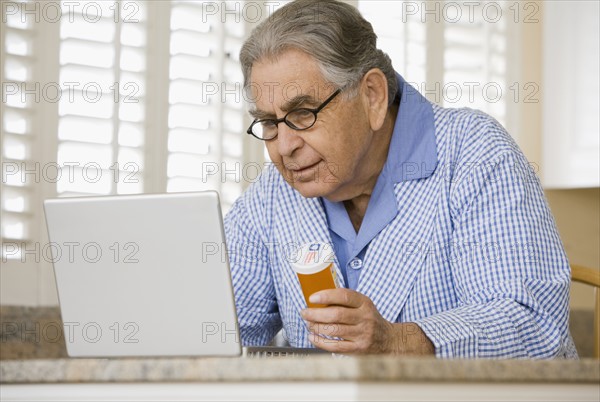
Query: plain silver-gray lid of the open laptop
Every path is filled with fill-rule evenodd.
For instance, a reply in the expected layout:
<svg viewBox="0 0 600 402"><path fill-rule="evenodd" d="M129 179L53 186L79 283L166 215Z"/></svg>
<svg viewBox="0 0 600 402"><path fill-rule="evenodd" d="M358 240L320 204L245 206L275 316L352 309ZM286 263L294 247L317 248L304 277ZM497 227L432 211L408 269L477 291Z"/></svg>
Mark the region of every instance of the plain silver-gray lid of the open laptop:
<svg viewBox="0 0 600 402"><path fill-rule="evenodd" d="M46 200L69 356L238 356L216 192Z"/></svg>

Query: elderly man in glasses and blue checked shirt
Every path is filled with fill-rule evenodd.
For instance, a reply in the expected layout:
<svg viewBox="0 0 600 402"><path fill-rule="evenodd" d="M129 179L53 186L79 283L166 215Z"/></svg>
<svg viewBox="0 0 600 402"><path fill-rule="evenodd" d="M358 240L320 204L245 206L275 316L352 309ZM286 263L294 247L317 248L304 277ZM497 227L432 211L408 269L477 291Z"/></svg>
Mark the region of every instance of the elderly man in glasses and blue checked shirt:
<svg viewBox="0 0 600 402"><path fill-rule="evenodd" d="M248 133L273 166L225 218L242 341L339 353L575 357L569 265L540 184L491 117L429 103L371 25L299 0L244 44ZM306 308L290 249L332 244Z"/></svg>

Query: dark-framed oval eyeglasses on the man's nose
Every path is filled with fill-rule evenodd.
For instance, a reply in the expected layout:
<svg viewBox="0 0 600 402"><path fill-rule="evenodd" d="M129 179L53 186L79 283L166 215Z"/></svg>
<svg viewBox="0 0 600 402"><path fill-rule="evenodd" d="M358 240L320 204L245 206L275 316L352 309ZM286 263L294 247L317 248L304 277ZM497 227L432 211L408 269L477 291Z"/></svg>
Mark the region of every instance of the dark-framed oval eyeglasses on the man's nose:
<svg viewBox="0 0 600 402"><path fill-rule="evenodd" d="M259 140L269 141L277 137L277 126L281 122L284 122L289 128L294 130L307 130L315 125L317 113L323 110L340 92L342 92L341 89L336 90L325 100L325 102L321 103L321 105L315 109L299 108L290 110L281 119L255 119L252 124L250 124L250 127L248 127L246 133L255 136Z"/></svg>

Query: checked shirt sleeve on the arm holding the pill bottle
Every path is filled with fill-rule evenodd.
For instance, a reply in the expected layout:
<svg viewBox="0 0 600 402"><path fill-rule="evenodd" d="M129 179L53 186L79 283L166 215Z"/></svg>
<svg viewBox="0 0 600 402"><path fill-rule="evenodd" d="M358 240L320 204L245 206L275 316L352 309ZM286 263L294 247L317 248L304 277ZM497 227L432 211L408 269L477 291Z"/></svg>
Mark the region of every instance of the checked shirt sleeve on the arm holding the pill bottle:
<svg viewBox="0 0 600 402"><path fill-rule="evenodd" d="M539 180L499 125L450 184L454 309L416 323L438 357L552 358L569 348L570 267ZM477 135L475 135L477 137ZM462 172L459 172L462 169Z"/></svg>

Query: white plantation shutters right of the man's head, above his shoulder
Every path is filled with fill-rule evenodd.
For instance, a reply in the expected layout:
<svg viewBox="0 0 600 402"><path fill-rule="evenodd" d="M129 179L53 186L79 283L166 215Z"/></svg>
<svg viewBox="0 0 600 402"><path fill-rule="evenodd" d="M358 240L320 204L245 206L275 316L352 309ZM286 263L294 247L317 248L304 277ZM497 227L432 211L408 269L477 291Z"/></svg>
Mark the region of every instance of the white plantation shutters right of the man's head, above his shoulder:
<svg viewBox="0 0 600 402"><path fill-rule="evenodd" d="M358 3L378 34L378 46L430 101L480 109L506 123L511 91L518 91L506 74L506 27L514 17L508 8L514 3Z"/></svg>

